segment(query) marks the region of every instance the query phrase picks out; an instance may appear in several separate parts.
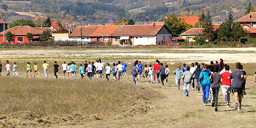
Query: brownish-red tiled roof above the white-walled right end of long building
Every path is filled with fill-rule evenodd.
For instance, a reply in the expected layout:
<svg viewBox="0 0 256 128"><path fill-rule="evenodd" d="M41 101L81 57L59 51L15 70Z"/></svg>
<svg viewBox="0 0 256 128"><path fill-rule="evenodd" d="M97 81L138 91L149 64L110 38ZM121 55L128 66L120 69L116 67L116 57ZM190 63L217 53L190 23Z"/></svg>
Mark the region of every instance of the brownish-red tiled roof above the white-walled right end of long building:
<svg viewBox="0 0 256 128"><path fill-rule="evenodd" d="M155 36L164 24L155 25L123 25L112 36Z"/></svg>

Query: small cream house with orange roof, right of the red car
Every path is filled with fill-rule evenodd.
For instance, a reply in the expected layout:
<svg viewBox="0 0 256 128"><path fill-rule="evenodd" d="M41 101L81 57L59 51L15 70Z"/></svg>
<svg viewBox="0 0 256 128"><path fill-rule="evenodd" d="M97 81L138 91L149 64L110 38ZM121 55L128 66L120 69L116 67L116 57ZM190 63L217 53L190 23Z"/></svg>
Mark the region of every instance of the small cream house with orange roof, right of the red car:
<svg viewBox="0 0 256 128"><path fill-rule="evenodd" d="M185 31L184 33L180 34L180 37L182 37L184 40L189 40L189 38L192 38L192 42L194 42L195 40L193 40L193 37L195 35L199 35L202 34L202 31L204 30L204 28L191 28L188 31Z"/></svg>

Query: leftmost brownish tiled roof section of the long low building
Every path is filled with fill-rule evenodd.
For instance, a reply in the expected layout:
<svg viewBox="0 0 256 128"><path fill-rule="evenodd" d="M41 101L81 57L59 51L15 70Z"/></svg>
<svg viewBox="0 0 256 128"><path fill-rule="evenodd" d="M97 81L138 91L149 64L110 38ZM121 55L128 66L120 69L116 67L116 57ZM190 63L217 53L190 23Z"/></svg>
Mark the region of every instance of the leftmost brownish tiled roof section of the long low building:
<svg viewBox="0 0 256 128"><path fill-rule="evenodd" d="M73 30L73 32L69 36L81 36L80 27L83 27L83 29L82 29L82 36L90 36L90 35L92 35L93 31L98 26L76 26L76 28Z"/></svg>

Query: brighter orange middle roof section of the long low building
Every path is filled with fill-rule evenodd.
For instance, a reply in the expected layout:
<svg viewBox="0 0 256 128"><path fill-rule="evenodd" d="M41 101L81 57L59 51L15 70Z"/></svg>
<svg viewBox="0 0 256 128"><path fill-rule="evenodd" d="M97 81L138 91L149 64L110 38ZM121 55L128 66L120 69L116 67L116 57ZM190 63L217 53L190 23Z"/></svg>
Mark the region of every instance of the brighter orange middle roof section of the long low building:
<svg viewBox="0 0 256 128"><path fill-rule="evenodd" d="M104 26L104 29L103 29L104 36L111 36L118 27L119 27L118 25ZM102 26L98 26L95 29L95 31L93 31L91 36L102 36Z"/></svg>

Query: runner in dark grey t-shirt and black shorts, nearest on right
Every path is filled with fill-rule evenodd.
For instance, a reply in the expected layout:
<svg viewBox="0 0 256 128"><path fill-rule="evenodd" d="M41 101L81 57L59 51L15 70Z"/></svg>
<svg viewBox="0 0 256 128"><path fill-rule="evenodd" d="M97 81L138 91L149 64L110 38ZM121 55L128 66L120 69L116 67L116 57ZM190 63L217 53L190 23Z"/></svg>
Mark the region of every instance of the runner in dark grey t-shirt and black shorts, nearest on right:
<svg viewBox="0 0 256 128"><path fill-rule="evenodd" d="M242 91L243 91L243 82L244 82L244 74L240 71L241 63L236 63L236 70L233 71L229 75L229 79L232 80L232 88L234 89L234 97L235 97L235 109L241 110L242 103ZM238 100L238 102L237 102Z"/></svg>

